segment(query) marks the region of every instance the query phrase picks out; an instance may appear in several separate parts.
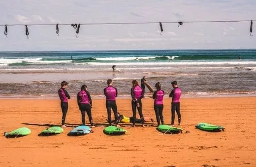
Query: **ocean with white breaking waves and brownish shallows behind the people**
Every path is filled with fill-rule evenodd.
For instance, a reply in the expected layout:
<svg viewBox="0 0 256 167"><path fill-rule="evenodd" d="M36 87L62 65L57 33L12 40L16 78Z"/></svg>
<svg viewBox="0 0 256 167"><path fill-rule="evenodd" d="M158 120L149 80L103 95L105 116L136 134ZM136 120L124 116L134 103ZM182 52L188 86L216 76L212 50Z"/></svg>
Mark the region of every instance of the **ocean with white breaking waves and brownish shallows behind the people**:
<svg viewBox="0 0 256 167"><path fill-rule="evenodd" d="M62 81L73 98L82 84L103 98L107 79L130 98L131 81L143 76L152 88L160 82L166 96L172 81L183 97L256 95L256 49L0 52L1 98L58 98Z"/></svg>

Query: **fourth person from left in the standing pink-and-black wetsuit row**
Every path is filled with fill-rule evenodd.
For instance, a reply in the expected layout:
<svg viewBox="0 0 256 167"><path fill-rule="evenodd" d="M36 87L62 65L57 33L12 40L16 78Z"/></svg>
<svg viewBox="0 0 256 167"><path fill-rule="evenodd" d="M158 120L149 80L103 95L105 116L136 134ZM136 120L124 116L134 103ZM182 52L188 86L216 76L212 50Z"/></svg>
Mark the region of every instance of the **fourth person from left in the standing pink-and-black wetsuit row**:
<svg viewBox="0 0 256 167"><path fill-rule="evenodd" d="M131 100L132 117L133 117L132 127L135 127L136 109L139 112L142 126L145 127L143 113L142 113L142 103L141 103L141 99L144 97L144 90L142 89L142 87L139 86L139 83L136 80L133 80L131 84L132 84L132 88L130 89L130 94L132 98Z"/></svg>

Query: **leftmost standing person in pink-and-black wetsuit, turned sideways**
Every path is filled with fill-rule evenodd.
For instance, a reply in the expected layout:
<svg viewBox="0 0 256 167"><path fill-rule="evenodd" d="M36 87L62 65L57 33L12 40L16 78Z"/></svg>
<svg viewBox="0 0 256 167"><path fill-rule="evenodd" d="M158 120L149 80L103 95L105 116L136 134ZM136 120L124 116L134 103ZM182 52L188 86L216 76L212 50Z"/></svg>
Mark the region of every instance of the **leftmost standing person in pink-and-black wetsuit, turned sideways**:
<svg viewBox="0 0 256 167"><path fill-rule="evenodd" d="M61 100L61 108L62 108L62 127L65 128L65 119L66 119L66 112L68 109L68 104L67 104L67 99L70 99L69 94L67 93L67 91L65 90L65 88L67 87L67 82L63 81L61 83L61 88L58 90L58 94Z"/></svg>

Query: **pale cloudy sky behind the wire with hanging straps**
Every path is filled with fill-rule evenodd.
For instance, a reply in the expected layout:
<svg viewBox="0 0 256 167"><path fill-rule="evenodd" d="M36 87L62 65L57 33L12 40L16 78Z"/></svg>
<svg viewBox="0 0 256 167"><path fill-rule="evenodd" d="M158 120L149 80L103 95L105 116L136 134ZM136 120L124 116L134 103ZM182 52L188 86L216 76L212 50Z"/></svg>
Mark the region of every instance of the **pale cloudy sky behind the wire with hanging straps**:
<svg viewBox="0 0 256 167"><path fill-rule="evenodd" d="M71 24L256 20L256 0L1 0L0 51L254 49L256 22ZM26 24L69 24L28 26ZM8 26L7 38L4 35Z"/></svg>

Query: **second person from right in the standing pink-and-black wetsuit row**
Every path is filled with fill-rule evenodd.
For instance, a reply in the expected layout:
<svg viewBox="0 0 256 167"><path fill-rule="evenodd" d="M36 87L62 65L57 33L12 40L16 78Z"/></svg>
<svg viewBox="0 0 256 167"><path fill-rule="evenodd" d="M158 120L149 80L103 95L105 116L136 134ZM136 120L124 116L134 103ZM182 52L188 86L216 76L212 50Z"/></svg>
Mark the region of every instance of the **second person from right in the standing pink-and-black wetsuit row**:
<svg viewBox="0 0 256 167"><path fill-rule="evenodd" d="M162 110L163 110L164 91L161 90L160 82L156 83L155 86L156 86L157 90L153 93L153 99L155 99L154 110L155 110L155 113L156 113L158 125L160 125L160 120L161 120L161 124L163 125Z"/></svg>

